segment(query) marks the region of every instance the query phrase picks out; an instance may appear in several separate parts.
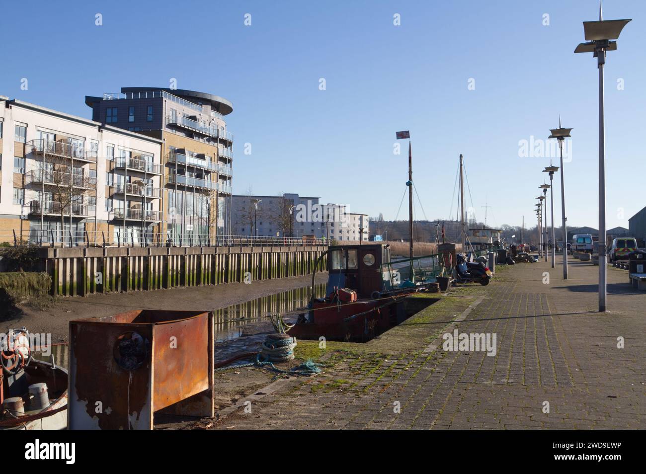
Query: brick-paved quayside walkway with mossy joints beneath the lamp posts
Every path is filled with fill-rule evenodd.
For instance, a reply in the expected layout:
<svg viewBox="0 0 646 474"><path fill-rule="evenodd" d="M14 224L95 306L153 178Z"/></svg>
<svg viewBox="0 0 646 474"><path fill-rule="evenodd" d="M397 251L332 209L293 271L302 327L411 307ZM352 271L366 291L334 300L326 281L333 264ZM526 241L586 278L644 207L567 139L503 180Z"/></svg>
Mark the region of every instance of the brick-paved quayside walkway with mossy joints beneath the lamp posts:
<svg viewBox="0 0 646 474"><path fill-rule="evenodd" d="M215 428L646 428L646 293L609 267L610 311L596 313L598 267L575 260L566 283L560 262L506 268L448 327L495 333L495 356L442 340L432 352L335 351L324 376L282 381Z"/></svg>

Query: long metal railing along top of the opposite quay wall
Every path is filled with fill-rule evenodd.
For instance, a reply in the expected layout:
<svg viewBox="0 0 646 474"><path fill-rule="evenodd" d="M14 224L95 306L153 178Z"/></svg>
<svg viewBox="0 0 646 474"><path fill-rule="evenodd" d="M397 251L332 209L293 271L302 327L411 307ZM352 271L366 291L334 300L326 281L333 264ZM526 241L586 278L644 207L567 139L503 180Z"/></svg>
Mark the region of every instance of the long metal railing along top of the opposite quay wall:
<svg viewBox="0 0 646 474"><path fill-rule="evenodd" d="M60 229L23 229L0 231L0 243L34 247L311 247L326 246L328 242L313 237L263 237L185 234L168 231L165 234L140 227L114 226L112 232Z"/></svg>

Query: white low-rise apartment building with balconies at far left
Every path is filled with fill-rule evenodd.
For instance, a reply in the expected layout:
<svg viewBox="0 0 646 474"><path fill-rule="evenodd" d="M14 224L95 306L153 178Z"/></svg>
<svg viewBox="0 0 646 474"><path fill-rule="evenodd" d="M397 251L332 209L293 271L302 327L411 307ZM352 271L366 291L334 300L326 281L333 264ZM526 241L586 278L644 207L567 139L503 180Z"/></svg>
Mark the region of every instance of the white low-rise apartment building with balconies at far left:
<svg viewBox="0 0 646 474"><path fill-rule="evenodd" d="M161 171L160 139L0 96L0 242L150 242Z"/></svg>

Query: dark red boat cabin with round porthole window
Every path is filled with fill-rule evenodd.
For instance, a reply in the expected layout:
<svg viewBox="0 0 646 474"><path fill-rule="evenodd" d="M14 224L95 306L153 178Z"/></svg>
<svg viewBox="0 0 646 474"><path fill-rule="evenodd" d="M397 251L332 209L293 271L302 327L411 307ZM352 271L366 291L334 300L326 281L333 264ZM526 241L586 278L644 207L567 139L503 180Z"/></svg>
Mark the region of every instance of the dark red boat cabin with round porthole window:
<svg viewBox="0 0 646 474"><path fill-rule="evenodd" d="M327 294L348 288L359 298L371 298L375 291L390 291L390 271L382 265L390 263L390 245L364 243L335 245L328 250Z"/></svg>

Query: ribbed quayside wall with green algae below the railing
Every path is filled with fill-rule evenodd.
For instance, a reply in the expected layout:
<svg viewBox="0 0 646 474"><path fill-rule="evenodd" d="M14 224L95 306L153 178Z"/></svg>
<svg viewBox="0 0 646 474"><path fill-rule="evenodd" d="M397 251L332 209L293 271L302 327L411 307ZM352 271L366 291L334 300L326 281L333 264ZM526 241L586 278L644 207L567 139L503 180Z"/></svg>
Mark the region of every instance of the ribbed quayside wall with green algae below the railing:
<svg viewBox="0 0 646 474"><path fill-rule="evenodd" d="M145 291L253 282L310 274L327 249L312 247L47 248L43 267L51 294ZM319 270L325 269L321 262Z"/></svg>

